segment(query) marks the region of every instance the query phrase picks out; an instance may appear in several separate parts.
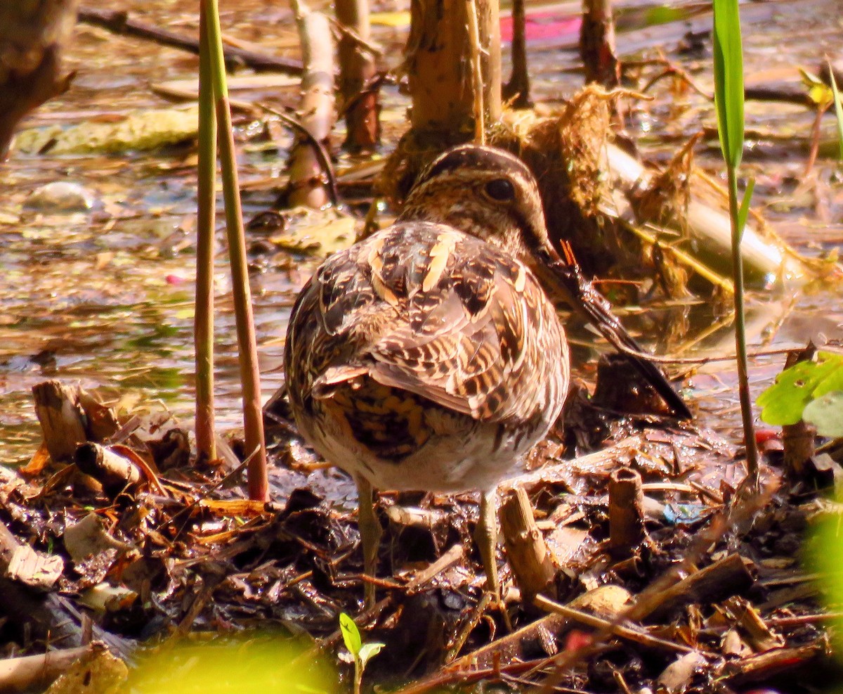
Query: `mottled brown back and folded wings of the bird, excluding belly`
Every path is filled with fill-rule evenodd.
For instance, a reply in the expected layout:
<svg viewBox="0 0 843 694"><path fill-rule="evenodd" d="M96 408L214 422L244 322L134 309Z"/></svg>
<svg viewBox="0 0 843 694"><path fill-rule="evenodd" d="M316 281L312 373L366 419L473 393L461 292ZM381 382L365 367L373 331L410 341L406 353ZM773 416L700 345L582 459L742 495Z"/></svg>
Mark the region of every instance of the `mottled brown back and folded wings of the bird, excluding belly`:
<svg viewBox="0 0 843 694"><path fill-rule="evenodd" d="M314 375L316 398L367 373L477 420L529 420L567 359L549 353L566 343L529 269L448 226L393 225L330 258L303 294L295 320L320 329L298 331L303 345L291 325L287 368Z"/></svg>

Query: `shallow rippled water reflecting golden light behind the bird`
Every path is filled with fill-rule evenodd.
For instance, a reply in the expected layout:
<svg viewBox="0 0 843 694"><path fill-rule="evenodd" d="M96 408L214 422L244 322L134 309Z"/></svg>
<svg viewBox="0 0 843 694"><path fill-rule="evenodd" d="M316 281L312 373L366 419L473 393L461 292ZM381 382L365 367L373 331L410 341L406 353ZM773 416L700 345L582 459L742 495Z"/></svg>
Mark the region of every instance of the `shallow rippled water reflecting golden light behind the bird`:
<svg viewBox="0 0 843 694"><path fill-rule="evenodd" d="M196 26L196 17L183 12L183 3L136 0L124 4L133 16L150 24L185 33ZM228 5L222 18L227 35L252 41L266 52L297 54L298 39L288 8L278 6L275 0ZM802 9L795 9L797 6ZM535 3L529 3L529 7L538 11ZM753 18L744 27L748 84L792 79L794 66L813 68L826 52L833 53L839 28L825 19L835 15L824 14L833 7L829 2L794 2L776 3L775 13L752 9ZM379 9L393 8L384 5ZM576 53L551 47L570 45L576 39L572 3L548 5L537 16L537 25L558 26L550 40L545 30L536 31L531 39L534 99L556 100L570 95L582 81L571 69L577 64ZM386 48L386 55L399 55L405 29L375 26L375 39ZM668 57L680 61L702 89L710 90L711 56L706 41L699 49L691 41L679 55L674 52L676 41L670 38L677 34L675 29L675 25L643 28L631 22L629 30L619 35L619 50L634 49L636 58L652 57L656 53L653 46L662 36ZM681 40L684 32L678 35ZM169 106L148 85L193 77L197 60L185 52L80 24L68 67L77 71L71 89L31 116L24 127L107 119L110 114L132 109ZM504 74L508 74L508 67ZM711 104L693 92L670 95L657 86L653 93L656 100L638 102L631 111L631 130L642 138L645 157L663 162L679 140L701 126L711 126L714 114ZM295 105L298 89L253 90L234 96L266 100L281 107ZM397 89L385 90L384 153L404 128L406 106L405 97ZM799 107L750 103L747 119L748 129L792 135L791 140L775 145L749 143L744 173L757 178L755 205L801 251L833 251L843 236L840 177L833 173L834 163L824 159L815 167L813 182L803 180L802 174L804 143L813 116ZM236 121L240 182L248 219L271 204L275 195L272 181L281 184L278 176L282 173L283 152L277 154L253 136L260 128L249 117L241 114ZM833 125L826 117L824 128L833 132ZM341 134L336 142L341 142ZM710 141L700 151L699 161L719 176L717 144ZM341 160L341 168L346 163ZM58 157L13 152L3 166L0 462L21 462L34 453L40 431L30 388L48 377L78 380L83 387L97 388L115 399L160 400L175 415L191 419L195 165L195 149L187 144L152 154ZM24 209L31 192L54 181L84 187L94 197L94 209L51 215ZM222 236L219 238L222 241ZM282 383L282 336L287 313L312 264L282 251L255 257L254 261L262 387L268 397ZM217 415L221 431L239 426L236 339L226 273L224 253L220 252ZM763 297L753 306L750 339L754 349L801 345L813 333L840 337L837 291L823 290L795 299L789 295ZM694 320L707 326L711 315ZM680 342L670 342L668 349L675 350ZM685 355L724 355L732 350L731 333L723 327ZM781 361L780 356L754 361L754 392L771 382ZM692 395L699 401L705 420L737 439L734 380L733 366L715 362L691 383Z"/></svg>

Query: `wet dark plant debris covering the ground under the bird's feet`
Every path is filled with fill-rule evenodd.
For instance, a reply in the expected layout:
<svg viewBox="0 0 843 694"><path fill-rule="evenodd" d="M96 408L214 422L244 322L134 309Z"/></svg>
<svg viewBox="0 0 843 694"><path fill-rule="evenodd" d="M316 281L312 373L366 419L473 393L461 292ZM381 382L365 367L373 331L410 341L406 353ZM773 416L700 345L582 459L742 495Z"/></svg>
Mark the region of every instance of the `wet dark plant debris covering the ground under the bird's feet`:
<svg viewBox="0 0 843 694"><path fill-rule="evenodd" d="M95 402L78 388L51 392L61 393L59 409L71 414L80 401ZM779 473L771 467L765 496L743 498L735 452L711 432L650 417L614 433L606 427L599 453L566 459L552 439L537 447L534 469L504 480L501 492L518 491L528 502L515 516L526 514L521 534L543 547L544 585L524 583L521 567L535 543L522 546L518 571L503 565L504 618L490 611L482 591L473 495L380 497L387 522L379 601L362 612L357 524L350 500L336 497L343 475L314 468L277 412L267 420L272 479L288 491L266 504L249 502L232 484L242 466L197 468L189 449L174 458L164 440L187 441L175 421L132 416L121 424L111 415L110 435L88 430L99 441L78 447L120 447L139 464L140 476L126 469L122 488L92 479L78 462L48 459L25 478L0 469L0 528L13 532L3 545L58 562L39 597L3 561L0 580L15 590L0 600L29 593L49 610L43 591L60 598L64 607L53 619L70 615L70 627L64 637L51 636L54 647L78 646L93 619L97 636L110 637L123 657L138 639L268 626L306 634L317 653L339 645L345 612L367 640L385 644L366 680L416 680L403 691L479 678L593 691L617 677L631 688L710 691L715 681L770 683L782 673L816 679L818 665L829 664L824 615L793 558L810 504L776 490ZM115 435L120 444L110 442ZM633 505L640 515L626 502L613 507L610 477L640 495ZM513 534L504 518L503 556L511 558L518 521ZM625 523L631 526L621 528ZM530 594L537 597L525 601ZM48 629L34 614L3 625L8 636L36 642Z"/></svg>

